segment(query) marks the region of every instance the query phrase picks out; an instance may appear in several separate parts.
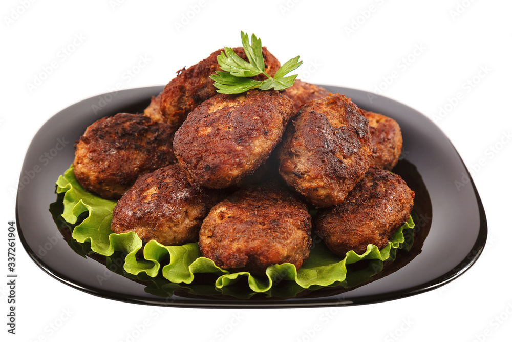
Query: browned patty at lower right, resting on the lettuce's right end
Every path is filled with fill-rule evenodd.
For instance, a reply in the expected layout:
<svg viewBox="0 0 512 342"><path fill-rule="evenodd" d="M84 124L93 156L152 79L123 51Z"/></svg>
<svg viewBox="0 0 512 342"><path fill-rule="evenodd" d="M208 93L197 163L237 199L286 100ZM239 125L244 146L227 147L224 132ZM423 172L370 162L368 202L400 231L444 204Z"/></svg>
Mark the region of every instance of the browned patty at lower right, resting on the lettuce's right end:
<svg viewBox="0 0 512 342"><path fill-rule="evenodd" d="M318 212L315 230L334 254L364 253L369 244L385 247L406 223L414 191L399 175L369 169L340 205Z"/></svg>

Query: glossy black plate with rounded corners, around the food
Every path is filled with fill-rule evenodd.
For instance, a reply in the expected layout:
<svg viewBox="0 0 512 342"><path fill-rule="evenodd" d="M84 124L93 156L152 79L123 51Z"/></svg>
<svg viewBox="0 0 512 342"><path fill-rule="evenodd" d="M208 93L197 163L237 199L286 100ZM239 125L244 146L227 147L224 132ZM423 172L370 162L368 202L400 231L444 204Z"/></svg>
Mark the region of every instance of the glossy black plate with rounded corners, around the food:
<svg viewBox="0 0 512 342"><path fill-rule="evenodd" d="M202 285L210 279L198 279L197 285L196 281L194 285L172 284L163 278L129 279L116 273L122 270L119 255L88 256L98 263L75 253L70 248L72 242L70 245L66 242L67 227L57 224L62 228L61 234L48 212L56 198L55 180L73 162L74 141L103 116L141 112L151 95L158 94L162 87L119 91L97 115L93 107L98 106L103 95L83 100L53 116L39 130L27 151L16 199L18 231L25 249L38 266L72 287L101 297L167 306L306 307L376 303L434 289L462 274L480 255L487 225L473 181L450 141L429 119L394 100L355 89L325 87L351 97L361 108L397 120L403 135L404 160L400 160L393 172L401 175L416 192L417 229L412 250L398 251L393 263L385 262L381 272L363 283L348 289L338 286L314 291L297 289L295 293L275 291L271 297L250 295L243 288L220 293ZM68 144L49 163L41 164L39 157L54 149L59 139ZM35 165L41 171L27 182L24 171L33 170ZM470 182L462 183L464 186L455 185L466 179ZM356 269L353 271L357 274ZM354 284L361 280L358 278Z"/></svg>

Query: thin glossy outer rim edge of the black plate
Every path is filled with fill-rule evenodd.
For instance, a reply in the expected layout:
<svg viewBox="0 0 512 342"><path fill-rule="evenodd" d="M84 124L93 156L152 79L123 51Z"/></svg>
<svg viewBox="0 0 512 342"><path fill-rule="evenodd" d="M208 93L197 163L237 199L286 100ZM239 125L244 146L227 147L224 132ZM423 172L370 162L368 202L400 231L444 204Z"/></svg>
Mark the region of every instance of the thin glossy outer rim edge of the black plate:
<svg viewBox="0 0 512 342"><path fill-rule="evenodd" d="M329 88L329 86L325 86L325 87ZM333 87L330 87L330 88L333 88ZM140 89L141 88L127 89L127 90L122 90L120 92L137 91ZM153 93L156 95L156 94L158 94L159 91L161 91L162 87L161 86L144 87L143 89L147 90L147 92L150 92L150 93ZM343 88L343 89L349 89L349 88ZM356 92L357 91L361 92L360 90L356 90L356 89L350 89L350 90L356 91ZM89 99L83 100L82 102L87 102L87 101L90 101L91 99L98 99L98 98L100 98L100 96L104 96L104 95L105 94L94 96ZM395 102L401 106L404 106L394 100L391 100L391 99L388 99L388 100ZM62 115L62 113L66 112L66 110L68 108L55 114L52 118ZM48 120L48 121L50 121L50 120ZM32 146L32 144L34 144L34 140L32 141L31 146ZM450 144L451 144L451 147L455 150L455 148L453 147L453 144L451 142L450 142ZM419 293L423 293L426 291L431 291L436 288L439 288L439 287L449 283L450 281L454 280L455 278L459 277L464 272L466 272L472 265L474 265L475 261L481 255L482 250L485 246L486 239L487 239L487 222L486 222L485 211L484 211L483 204L481 202L480 196L475 187L474 181L471 178L470 173L467 171L467 168L464 165L464 163L458 153L457 153L457 156L460 159L460 163L462 163L462 165L468 175L468 178L470 179L470 184L471 184L472 190L474 191L474 195L475 195L476 202L478 205L478 211L479 211L479 217L480 217L480 229L478 232L478 236L475 240L475 243L473 245L473 248L470 250L469 253L467 253L466 257L462 261L460 261L460 263L456 267L452 268L449 272L446 272L446 273L442 274L441 276L439 276L435 279L432 279L430 281L427 281L421 285L402 289L399 291L386 292L386 293L382 293L382 294L378 294L378 295L370 295L370 296L365 296L365 297L352 298L350 300L343 299L343 297L344 297L343 295L339 296L338 298L335 298L335 299L334 298L326 298L326 299L323 299L323 298L307 298L306 299L306 298L304 298L304 299L301 299L300 301L287 301L287 300L261 301L261 302L248 301L248 300L230 300L230 301L223 301L223 300L200 301L199 300L199 301L196 301L196 300L188 300L188 298L181 298L181 297L179 297L179 299L176 299L176 300L169 300L167 298L166 299L155 298L155 300L152 300L147 297L136 296L136 295L126 297L126 296L120 295L117 292L106 291L106 290L95 291L93 289L90 289L88 286L85 286L80 281L78 281L76 279L72 281L69 279L69 277L66 274L62 274L61 272L59 272L56 269L47 267L47 265L45 265L44 261L42 261L37 256L37 254L32 250L32 248L29 246L29 244L27 243L27 240L24 236L23 227L20 227L20 225L19 225L19 222L20 222L20 212L19 212L19 197L20 196L19 196L19 193L16 197L16 220L18 223L17 229L18 229L20 241L22 242L22 245L24 246L25 250L28 252L28 254L32 258L34 263L37 266L39 266L42 270L44 270L46 273L50 274L52 277L61 281L62 283L69 285L69 286L71 286L75 289L78 289L80 291L83 291L83 292L86 292L86 293L89 293L89 294L92 294L95 296L99 296L102 298L124 301L126 303L147 304L147 305L164 305L164 306L174 306L174 307L203 307L203 308L268 308L268 307L295 308L295 307L325 307L325 306L345 306L345 305L380 303L383 301L400 299L400 298L408 297L411 295L416 295ZM27 157L24 162L23 170L27 169L25 167L26 164L27 164ZM22 171L22 174L20 175L20 179L22 176L23 176L23 171Z"/></svg>

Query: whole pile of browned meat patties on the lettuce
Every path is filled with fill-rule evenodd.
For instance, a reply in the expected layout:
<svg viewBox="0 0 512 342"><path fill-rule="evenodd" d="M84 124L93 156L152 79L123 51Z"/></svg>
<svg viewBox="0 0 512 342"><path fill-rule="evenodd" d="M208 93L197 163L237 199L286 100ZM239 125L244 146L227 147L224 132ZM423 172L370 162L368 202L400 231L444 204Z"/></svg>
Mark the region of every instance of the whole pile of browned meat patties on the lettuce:
<svg viewBox="0 0 512 342"><path fill-rule="evenodd" d="M219 267L255 275L300 268L312 228L340 257L386 246L414 199L387 171L402 148L395 120L298 80L282 92L218 94L209 76L221 51L180 70L143 114L102 118L76 142L78 182L119 199L112 231L199 242ZM263 56L273 76L280 63Z"/></svg>

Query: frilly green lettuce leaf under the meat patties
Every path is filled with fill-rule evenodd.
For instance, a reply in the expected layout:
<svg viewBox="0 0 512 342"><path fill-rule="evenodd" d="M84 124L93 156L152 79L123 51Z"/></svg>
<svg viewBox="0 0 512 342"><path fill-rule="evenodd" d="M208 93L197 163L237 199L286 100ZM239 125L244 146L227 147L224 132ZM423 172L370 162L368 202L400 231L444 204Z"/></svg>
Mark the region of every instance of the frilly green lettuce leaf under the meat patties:
<svg viewBox="0 0 512 342"><path fill-rule="evenodd" d="M215 285L215 291L227 295L236 292L232 291L232 285L237 283L248 286L253 293L272 296L279 296L280 293L285 296L291 292L298 293L303 289L314 290L325 286L355 286L380 272L384 260L394 260L398 249L409 250L414 231L414 222L409 217L408 222L398 229L386 247L379 250L375 245L368 245L364 253L349 251L343 259L332 254L315 237L309 258L300 269L296 270L289 263L272 265L267 268L265 276L255 276L249 272L231 273L219 268L212 260L201 256L197 243L164 246L151 240L144 246L141 256L139 251L142 241L136 233L115 234L110 229L112 210L116 202L84 190L74 176L73 167L59 176L56 192L64 194L61 217L68 226L73 227L73 239L86 245L80 249L76 243L71 243L70 246L77 253L84 255L94 252L110 256L114 252L120 252L125 255L123 268L127 274L138 278L155 278L161 275L170 283L181 284L180 287L160 284L159 291L166 289L167 293L183 288L184 284L190 284L185 286L188 290L198 291L198 286L193 281L200 274L213 276L216 279L212 284ZM80 215L86 216L81 222ZM408 233L407 241L404 230ZM368 265L347 276L347 265L361 260L369 260ZM199 289L202 292L210 291L201 286Z"/></svg>

